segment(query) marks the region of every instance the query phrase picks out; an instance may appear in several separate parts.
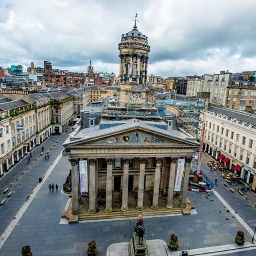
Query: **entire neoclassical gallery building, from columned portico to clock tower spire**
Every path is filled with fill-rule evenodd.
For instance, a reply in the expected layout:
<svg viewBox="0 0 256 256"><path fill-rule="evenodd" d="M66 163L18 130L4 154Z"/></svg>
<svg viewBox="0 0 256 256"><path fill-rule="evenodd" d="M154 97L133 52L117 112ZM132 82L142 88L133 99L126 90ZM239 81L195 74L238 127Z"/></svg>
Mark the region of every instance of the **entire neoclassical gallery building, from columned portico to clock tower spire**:
<svg viewBox="0 0 256 256"><path fill-rule="evenodd" d="M89 127L78 126L63 144L70 152L72 202L62 216L70 222L138 212L189 213L190 162L200 145L174 125L173 116L148 102L150 47L136 20L118 49L122 83L116 100L108 103L100 122L99 116L89 117Z"/></svg>

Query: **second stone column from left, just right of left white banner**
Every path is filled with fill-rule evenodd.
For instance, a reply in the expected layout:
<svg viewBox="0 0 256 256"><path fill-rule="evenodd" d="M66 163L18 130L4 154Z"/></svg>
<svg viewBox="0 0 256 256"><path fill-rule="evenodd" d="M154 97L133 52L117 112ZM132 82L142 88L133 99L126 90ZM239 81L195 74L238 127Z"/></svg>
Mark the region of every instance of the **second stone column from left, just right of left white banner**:
<svg viewBox="0 0 256 256"><path fill-rule="evenodd" d="M95 173L96 173L96 159L89 159L89 210L93 214L96 212L96 186L95 186Z"/></svg>

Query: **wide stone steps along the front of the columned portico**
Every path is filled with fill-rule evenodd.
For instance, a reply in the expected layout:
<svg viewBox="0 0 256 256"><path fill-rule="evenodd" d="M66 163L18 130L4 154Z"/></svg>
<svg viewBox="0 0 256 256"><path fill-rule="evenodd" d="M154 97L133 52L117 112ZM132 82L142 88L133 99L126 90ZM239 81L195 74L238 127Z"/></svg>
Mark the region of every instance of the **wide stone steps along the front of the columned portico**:
<svg viewBox="0 0 256 256"><path fill-rule="evenodd" d="M79 221L82 220L98 220L98 219L112 219L112 218L130 218L130 217L137 217L138 214L142 214L142 216L157 216L157 215L164 215L164 214L182 214L182 209L174 208L174 209L166 209L166 210L152 210L152 211L142 211L138 212L137 210L129 210L129 212L110 212L108 214L79 214Z"/></svg>

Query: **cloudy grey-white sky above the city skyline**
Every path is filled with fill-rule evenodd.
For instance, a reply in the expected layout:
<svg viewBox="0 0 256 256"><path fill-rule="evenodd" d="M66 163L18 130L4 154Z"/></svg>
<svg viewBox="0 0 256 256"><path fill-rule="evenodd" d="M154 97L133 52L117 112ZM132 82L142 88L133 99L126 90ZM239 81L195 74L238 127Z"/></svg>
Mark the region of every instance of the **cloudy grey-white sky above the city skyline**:
<svg viewBox="0 0 256 256"><path fill-rule="evenodd" d="M0 0L0 66L118 75L118 43L133 27L151 46L148 74L256 70L255 0Z"/></svg>

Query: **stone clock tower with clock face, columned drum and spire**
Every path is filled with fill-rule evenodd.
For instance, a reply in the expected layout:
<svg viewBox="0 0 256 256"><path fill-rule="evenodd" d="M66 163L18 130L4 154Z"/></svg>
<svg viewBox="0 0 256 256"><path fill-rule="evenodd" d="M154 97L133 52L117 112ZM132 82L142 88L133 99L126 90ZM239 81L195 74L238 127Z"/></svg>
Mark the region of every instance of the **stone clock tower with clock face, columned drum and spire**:
<svg viewBox="0 0 256 256"><path fill-rule="evenodd" d="M117 104L147 104L148 88L146 76L148 69L148 37L138 31L137 13L132 30L122 34L119 50L119 71L121 84L117 88Z"/></svg>

